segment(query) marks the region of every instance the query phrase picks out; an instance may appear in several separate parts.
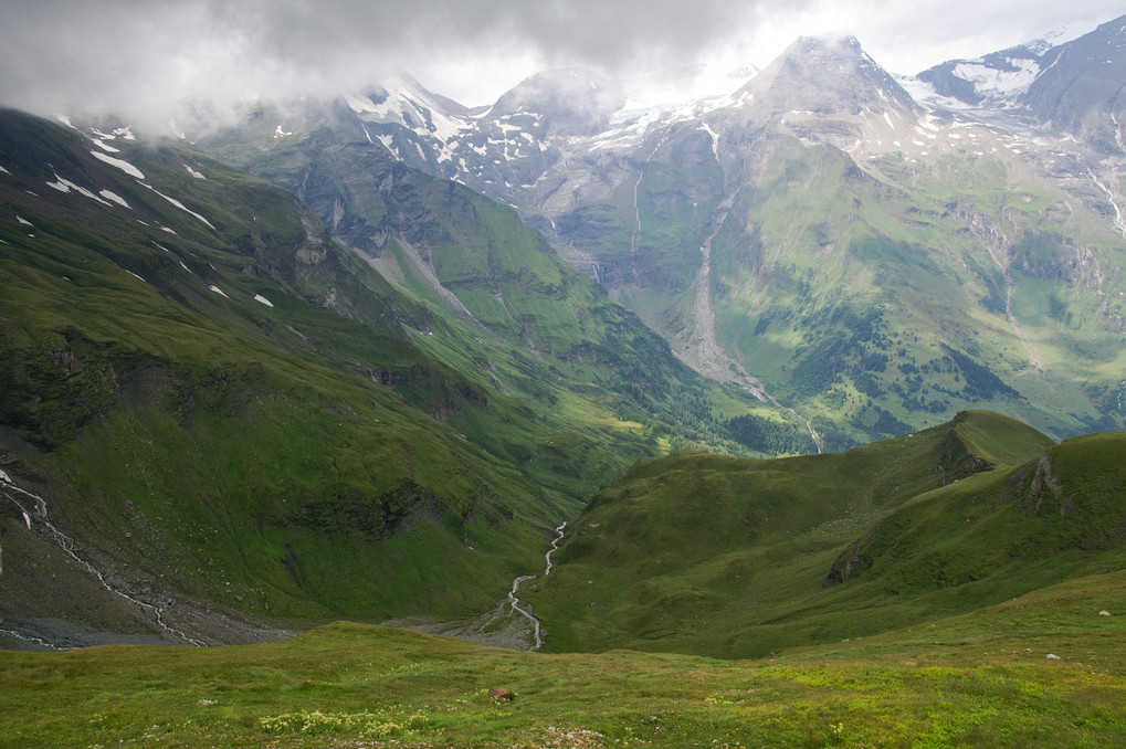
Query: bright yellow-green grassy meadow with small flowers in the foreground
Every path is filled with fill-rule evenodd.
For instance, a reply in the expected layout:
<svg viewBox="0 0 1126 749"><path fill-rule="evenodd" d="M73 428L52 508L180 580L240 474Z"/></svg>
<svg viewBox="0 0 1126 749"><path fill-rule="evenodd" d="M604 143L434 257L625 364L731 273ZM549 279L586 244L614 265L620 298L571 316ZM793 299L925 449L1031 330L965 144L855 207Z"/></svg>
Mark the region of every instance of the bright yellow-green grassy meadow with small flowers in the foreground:
<svg viewBox="0 0 1126 749"><path fill-rule="evenodd" d="M753 661L347 623L271 645L5 652L0 746L1126 746L1126 621L1099 613L1124 592L1126 572L1084 578Z"/></svg>

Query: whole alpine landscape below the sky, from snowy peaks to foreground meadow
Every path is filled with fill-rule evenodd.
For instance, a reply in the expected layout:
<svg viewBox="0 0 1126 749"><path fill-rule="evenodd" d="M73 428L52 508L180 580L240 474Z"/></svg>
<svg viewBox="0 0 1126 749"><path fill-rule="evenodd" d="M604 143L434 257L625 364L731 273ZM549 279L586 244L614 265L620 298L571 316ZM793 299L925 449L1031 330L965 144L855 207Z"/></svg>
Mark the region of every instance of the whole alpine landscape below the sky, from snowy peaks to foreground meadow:
<svg viewBox="0 0 1126 749"><path fill-rule="evenodd" d="M1121 743L1123 50L0 109L0 747Z"/></svg>

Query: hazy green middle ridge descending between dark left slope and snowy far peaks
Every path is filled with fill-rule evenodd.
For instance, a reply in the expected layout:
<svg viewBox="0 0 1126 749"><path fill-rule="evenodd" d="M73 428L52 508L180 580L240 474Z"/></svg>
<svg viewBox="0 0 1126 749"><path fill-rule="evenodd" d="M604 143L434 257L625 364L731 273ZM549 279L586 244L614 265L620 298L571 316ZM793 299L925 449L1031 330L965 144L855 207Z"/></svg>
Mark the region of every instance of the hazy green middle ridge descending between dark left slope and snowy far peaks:
<svg viewBox="0 0 1126 749"><path fill-rule="evenodd" d="M568 267L515 211L399 163L384 146L370 143L354 116L311 116L301 132L284 139L274 137L269 122L268 113L259 113L203 148L292 190L336 235L419 298L472 315L456 347L427 340L420 346L452 364L456 360L455 366L479 381L495 381L548 417L575 408L640 423L652 444L664 449L777 454L761 444L731 439L724 421L757 413L768 419L771 430L775 422L789 428L801 423L788 412L696 375L637 315ZM654 179L674 179L667 170ZM676 213L681 216L683 209ZM687 240L681 235L680 241ZM650 258L643 265L660 273L667 260ZM688 282L695 270L688 269ZM436 280L443 291L435 288ZM456 304L449 295L456 296ZM488 356L464 356L464 350L482 347ZM545 399L547 382L556 383L551 398L564 401L562 409ZM581 413L573 420L587 421ZM616 429L609 442L620 440L631 462L654 452L652 444L638 449L626 433ZM812 440L804 448L812 451Z"/></svg>

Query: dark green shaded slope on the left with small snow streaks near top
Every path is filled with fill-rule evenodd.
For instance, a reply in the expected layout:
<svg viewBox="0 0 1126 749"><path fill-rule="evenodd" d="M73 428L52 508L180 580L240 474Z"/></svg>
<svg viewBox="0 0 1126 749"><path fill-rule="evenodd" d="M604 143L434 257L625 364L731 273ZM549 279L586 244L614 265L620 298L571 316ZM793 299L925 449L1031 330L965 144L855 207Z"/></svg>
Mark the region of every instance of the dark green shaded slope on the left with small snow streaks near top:
<svg viewBox="0 0 1126 749"><path fill-rule="evenodd" d="M214 162L191 162L196 180L184 154L126 154L209 230L57 126L5 126L0 368L23 460L7 471L52 476L52 517L135 578L258 615L475 610L604 475L549 494L529 480L498 446L554 430L374 332L441 328L343 273L350 256L292 197ZM131 207L56 194L55 172ZM328 297L366 324L305 301Z"/></svg>

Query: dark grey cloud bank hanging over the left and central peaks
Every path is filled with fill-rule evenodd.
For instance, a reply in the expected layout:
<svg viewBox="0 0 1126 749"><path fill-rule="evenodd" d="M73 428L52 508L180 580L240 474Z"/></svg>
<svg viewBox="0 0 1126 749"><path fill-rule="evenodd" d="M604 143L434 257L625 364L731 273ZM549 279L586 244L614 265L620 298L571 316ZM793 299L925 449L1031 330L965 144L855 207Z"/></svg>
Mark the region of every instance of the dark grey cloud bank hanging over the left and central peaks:
<svg viewBox="0 0 1126 749"><path fill-rule="evenodd" d="M799 0L801 1L801 0ZM680 64L751 19L729 0L3 0L0 101L168 107L315 92L388 69ZM506 61L513 64L506 65ZM500 65L498 68L498 65ZM479 73L480 74L480 73Z"/></svg>

